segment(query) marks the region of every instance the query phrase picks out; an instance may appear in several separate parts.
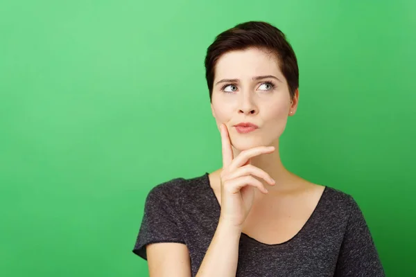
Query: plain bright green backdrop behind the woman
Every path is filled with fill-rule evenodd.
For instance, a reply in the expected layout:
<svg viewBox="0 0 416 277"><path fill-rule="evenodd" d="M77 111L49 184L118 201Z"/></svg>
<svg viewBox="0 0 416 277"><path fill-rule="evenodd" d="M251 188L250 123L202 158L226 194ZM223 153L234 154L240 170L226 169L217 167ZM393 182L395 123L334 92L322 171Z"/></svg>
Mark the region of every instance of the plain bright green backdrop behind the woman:
<svg viewBox="0 0 416 277"><path fill-rule="evenodd" d="M221 165L203 60L249 20L286 33L285 165L352 194L388 276L416 276L416 1L2 1L2 276L147 276L146 194Z"/></svg>

